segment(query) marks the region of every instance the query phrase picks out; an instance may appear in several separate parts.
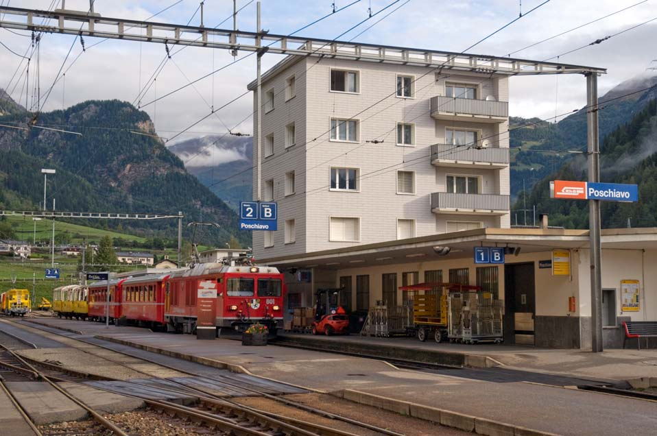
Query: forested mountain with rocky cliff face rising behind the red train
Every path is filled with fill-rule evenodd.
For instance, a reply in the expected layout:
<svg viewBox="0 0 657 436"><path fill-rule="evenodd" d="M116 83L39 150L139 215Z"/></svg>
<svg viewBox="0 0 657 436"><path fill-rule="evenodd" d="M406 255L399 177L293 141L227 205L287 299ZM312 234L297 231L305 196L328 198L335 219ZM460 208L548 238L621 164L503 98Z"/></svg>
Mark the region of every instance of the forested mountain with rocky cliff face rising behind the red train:
<svg viewBox="0 0 657 436"><path fill-rule="evenodd" d="M156 136L146 112L123 101L93 100L36 117L36 126L81 133L77 135L28 126L24 120L35 114L23 108L16 112L12 103L3 100L0 123L27 130L0 128L1 208L38 209L43 201L40 169L53 168L57 173L48 178L48 197L49 202L56 198L58 210L167 215L181 210L185 221L221 224L216 230L200 230L197 239L202 243L223 246L234 236L250 245L250 234L238 230L235 212L185 170ZM119 225L118 220L75 223ZM128 220L121 226L144 236L176 239L178 223ZM184 232L189 236L191 230Z"/></svg>

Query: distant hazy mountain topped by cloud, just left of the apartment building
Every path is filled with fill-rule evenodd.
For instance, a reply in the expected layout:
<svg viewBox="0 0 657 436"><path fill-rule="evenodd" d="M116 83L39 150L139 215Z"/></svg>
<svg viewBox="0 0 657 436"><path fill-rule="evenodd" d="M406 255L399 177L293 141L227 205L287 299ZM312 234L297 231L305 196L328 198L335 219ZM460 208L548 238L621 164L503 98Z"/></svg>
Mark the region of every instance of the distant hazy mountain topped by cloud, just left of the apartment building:
<svg viewBox="0 0 657 436"><path fill-rule="evenodd" d="M203 136L171 145L169 151L234 210L252 198L252 138Z"/></svg>

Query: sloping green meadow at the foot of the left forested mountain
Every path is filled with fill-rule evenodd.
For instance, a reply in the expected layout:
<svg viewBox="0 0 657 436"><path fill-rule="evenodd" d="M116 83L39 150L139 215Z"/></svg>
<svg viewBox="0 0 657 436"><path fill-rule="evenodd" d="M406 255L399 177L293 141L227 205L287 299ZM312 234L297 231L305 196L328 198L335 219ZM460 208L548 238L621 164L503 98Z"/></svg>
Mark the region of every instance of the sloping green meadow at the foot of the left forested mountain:
<svg viewBox="0 0 657 436"><path fill-rule="evenodd" d="M50 241L52 238L52 221L50 220L32 221L32 217L7 217L7 221L12 224L12 228L16 233L16 239L33 241L35 222L37 241ZM132 234L64 223L63 221L55 221L55 234L58 234L58 232L69 232L73 243L84 241L84 237L86 237L87 241L98 242L106 234L109 234L112 238L123 238L128 241L144 242L146 240L144 237L134 236Z"/></svg>

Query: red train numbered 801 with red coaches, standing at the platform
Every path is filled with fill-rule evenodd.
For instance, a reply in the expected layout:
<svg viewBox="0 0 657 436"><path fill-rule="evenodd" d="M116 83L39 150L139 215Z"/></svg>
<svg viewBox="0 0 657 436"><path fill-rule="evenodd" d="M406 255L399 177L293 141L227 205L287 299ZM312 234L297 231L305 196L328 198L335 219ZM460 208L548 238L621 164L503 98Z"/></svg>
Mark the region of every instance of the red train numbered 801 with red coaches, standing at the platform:
<svg viewBox="0 0 657 436"><path fill-rule="evenodd" d="M89 285L88 317L104 321L107 282ZM256 322L270 334L283 324L283 274L273 267L204 263L185 271L110 280L110 321L193 333L198 295L216 292L215 326L242 332Z"/></svg>

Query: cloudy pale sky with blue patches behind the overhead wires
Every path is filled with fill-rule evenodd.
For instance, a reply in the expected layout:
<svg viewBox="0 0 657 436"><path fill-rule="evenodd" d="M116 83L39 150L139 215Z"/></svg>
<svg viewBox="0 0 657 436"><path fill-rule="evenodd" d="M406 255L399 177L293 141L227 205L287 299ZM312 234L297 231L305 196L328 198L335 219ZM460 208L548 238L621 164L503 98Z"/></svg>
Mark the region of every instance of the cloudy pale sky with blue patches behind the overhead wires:
<svg viewBox="0 0 657 436"><path fill-rule="evenodd" d="M289 34L331 12L332 3L335 3L336 8L342 8L353 1L355 0L262 0L262 27L275 34ZM298 36L334 39L350 27L366 20L368 8L376 13L393 1L358 1L304 29ZM357 36L387 12L394 10L390 16L357 36L355 42L461 52L518 18L520 10L526 14L543 1L545 0L524 0L521 6L518 0L401 0L339 39L348 40ZM48 9L54 3L59 7L61 0L0 0L0 5L4 6L42 10ZM206 0L204 25L215 27L227 19L219 27L232 28L232 3L231 0ZM505 56L636 3L640 4L513 54L516 58L545 60L656 18L657 0L549 0L468 52ZM150 21L185 24L191 19L192 25L200 25L200 14L195 14L199 6L198 0L96 0L95 12L102 16L143 20L169 5L173 6ZM238 8L245 5L237 16L237 27L254 31L256 1L237 0ZM86 12L89 3L83 0L67 0L66 8ZM398 9L395 10L396 8ZM0 42L22 55L30 45L30 37L25 31L19 33L23 35L0 29ZM223 134L228 128L238 132L252 132L252 119L248 118L252 113L252 96L248 94L226 108L217 110L186 133L176 136L177 132L208 115L211 106L219 108L246 91L247 84L255 77L255 56L227 66L195 86L187 86L156 103L151 103L156 97L162 97L188 84L189 80L198 79L233 62L232 56L223 49L187 47L167 62L155 84L151 84L147 92L139 98L140 90L150 83L148 79L166 56L163 45L106 40L91 47L101 39L89 37L84 38L87 49L82 52L79 38L75 43L74 40L75 36L72 35L43 36L39 66L41 94L45 95L47 90L52 88L44 110L60 109L88 99L129 101L139 104L150 114L158 134L171 138L169 145L191 137ZM631 77L657 73L657 70L647 71L650 66L657 67L657 61L653 62L657 60L655 40L657 20L600 44L561 56L558 60L569 64L606 68L608 73L599 77L598 81L599 95L604 95L607 90ZM71 53L67 58L69 49ZM170 49L171 52L176 52L180 47L171 45ZM249 52L241 52L237 59L248 54ZM282 57L278 55L265 55L263 71L280 59ZM16 79L25 67L25 62L19 66L21 61L19 56L0 46L0 88L8 88L12 97L20 99L21 104L25 105L25 90L21 89L24 81ZM58 75L62 65L62 71L67 71L63 80L61 75ZM18 74L12 81L12 75L17 69ZM34 72L34 65L31 69ZM60 80L53 85L58 76ZM580 108L586 104L585 84L582 75L512 77L510 114L549 119L555 114ZM29 101L29 97L27 98Z"/></svg>

